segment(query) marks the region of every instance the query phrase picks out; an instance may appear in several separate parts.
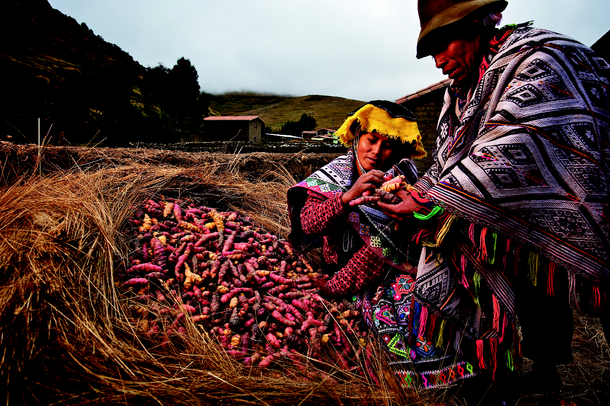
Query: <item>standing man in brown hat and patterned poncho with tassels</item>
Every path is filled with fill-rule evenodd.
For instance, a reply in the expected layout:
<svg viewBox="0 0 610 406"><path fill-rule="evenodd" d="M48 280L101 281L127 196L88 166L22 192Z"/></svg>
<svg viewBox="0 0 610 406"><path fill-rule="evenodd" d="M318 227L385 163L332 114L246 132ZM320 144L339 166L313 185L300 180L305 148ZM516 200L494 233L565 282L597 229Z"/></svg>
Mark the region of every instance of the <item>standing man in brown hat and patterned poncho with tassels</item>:
<svg viewBox="0 0 610 406"><path fill-rule="evenodd" d="M453 82L432 166L400 204L379 206L401 220L442 209L410 220L428 236L416 295L476 342L481 369L518 317L527 389L554 391L555 365L572 359L571 309L600 314L610 276L610 69L563 35L495 28L506 6L418 1L417 57Z"/></svg>

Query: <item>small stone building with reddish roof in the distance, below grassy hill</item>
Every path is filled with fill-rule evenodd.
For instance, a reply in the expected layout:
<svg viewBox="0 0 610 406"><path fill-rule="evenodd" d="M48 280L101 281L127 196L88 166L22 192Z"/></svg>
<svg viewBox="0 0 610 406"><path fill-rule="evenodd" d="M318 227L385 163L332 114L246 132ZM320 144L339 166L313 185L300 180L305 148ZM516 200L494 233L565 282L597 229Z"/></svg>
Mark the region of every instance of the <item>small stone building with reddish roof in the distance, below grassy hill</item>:
<svg viewBox="0 0 610 406"><path fill-rule="evenodd" d="M264 125L259 116L210 116L203 119L204 138L260 144Z"/></svg>

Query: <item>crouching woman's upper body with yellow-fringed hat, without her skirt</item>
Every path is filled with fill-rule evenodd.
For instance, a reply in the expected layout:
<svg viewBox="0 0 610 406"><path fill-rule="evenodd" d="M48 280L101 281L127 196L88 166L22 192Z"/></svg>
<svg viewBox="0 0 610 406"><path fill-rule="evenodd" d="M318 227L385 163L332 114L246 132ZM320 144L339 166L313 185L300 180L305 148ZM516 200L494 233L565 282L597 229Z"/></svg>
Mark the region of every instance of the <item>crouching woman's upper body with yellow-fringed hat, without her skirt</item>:
<svg viewBox="0 0 610 406"><path fill-rule="evenodd" d="M425 152L416 118L387 101L371 101L350 113L336 135L351 147L347 154L288 191L289 238L302 251L323 241L324 269L334 274L325 289L348 295L381 274L380 258L386 266L409 268L400 244L392 239L393 220L372 206L352 207L350 201L374 192L386 172L416 180L417 170L410 158ZM395 248L394 256L380 252L377 236Z"/></svg>

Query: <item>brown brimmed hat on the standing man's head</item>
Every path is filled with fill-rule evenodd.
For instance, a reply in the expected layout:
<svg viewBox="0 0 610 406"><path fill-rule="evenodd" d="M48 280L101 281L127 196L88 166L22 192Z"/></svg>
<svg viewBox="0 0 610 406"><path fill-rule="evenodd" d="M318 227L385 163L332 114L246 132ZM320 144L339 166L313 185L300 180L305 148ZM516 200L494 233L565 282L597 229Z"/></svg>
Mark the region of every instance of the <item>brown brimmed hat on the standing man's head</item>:
<svg viewBox="0 0 610 406"><path fill-rule="evenodd" d="M435 42L447 40L440 34L448 34L453 24L481 7L502 12L508 5L505 0L418 0L417 11L421 31L417 39L417 58L431 55Z"/></svg>

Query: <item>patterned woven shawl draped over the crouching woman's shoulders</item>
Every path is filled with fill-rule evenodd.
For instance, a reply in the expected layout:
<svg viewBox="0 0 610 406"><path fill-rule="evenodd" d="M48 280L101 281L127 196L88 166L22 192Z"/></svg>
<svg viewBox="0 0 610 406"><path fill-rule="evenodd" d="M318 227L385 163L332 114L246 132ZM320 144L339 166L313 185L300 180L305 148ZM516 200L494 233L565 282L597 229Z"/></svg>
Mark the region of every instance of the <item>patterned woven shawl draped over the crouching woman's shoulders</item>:
<svg viewBox="0 0 610 406"><path fill-rule="evenodd" d="M300 251L319 246L322 242L321 236L307 236L301 229L300 214L307 199L307 191L319 193L327 198L347 192L352 186L354 164L354 152L349 149L346 155L335 158L288 190L288 211L292 225L289 239ZM396 174L399 165L417 174L415 166L408 159L403 159L389 173ZM403 271L413 268L409 264L408 252L403 252L401 242L392 235L394 221L379 209L366 205L354 206L347 221L364 243L370 245L385 263ZM416 260L411 259L410 262L414 263Z"/></svg>

